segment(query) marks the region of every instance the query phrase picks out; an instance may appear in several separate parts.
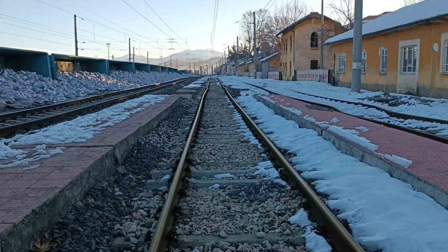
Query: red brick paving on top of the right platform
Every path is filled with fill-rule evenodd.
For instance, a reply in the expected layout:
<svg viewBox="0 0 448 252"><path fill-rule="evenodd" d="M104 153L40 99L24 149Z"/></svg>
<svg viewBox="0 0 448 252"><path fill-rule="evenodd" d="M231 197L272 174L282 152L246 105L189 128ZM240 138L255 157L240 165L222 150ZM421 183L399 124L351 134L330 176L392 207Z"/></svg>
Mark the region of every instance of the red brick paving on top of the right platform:
<svg viewBox="0 0 448 252"><path fill-rule="evenodd" d="M367 132L358 130L359 136L378 145L377 153L412 160L412 164L407 169L408 172L448 192L447 144L339 112L312 110L306 107L310 104L285 96L269 95L269 98L277 105L301 110L302 116L310 115L319 122L326 121L330 125L342 126L346 129L356 129L356 126L367 127L369 129ZM335 117L340 120L339 123L331 122Z"/></svg>

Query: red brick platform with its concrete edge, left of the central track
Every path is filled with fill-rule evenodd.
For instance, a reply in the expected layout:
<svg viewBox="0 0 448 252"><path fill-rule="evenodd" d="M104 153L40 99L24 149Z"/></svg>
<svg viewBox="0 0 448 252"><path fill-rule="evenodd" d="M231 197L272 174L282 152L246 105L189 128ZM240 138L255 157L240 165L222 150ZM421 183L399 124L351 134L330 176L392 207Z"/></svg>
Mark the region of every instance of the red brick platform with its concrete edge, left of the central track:
<svg viewBox="0 0 448 252"><path fill-rule="evenodd" d="M138 138L181 100L178 95L167 97L87 142L47 145L63 146L64 153L31 163L40 164L38 168L0 169L0 252L28 251L33 235L40 237L92 186L112 175Z"/></svg>

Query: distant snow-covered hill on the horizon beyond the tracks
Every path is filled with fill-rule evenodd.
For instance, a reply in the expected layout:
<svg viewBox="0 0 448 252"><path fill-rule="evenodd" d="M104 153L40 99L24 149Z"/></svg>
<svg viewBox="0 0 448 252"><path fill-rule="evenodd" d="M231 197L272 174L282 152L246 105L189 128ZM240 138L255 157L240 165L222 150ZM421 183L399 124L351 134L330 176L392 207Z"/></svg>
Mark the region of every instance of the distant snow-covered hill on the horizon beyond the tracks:
<svg viewBox="0 0 448 252"><path fill-rule="evenodd" d="M171 54L170 55L171 62L170 62L170 56L163 57L162 65L176 68L176 59L177 59L177 66L179 69L189 70L191 62L191 70L194 70L196 65L196 70L199 71L201 66L203 68L205 68L206 65L210 66L210 62L212 62L214 66L216 66L216 63L218 63L219 65L223 55L224 53L222 52L212 50L186 50L179 53ZM129 54L117 57L115 58L115 60L127 61L129 60ZM142 56L135 55L135 62L146 63L147 58L146 56L143 55ZM149 58L149 64L160 65L160 58L157 59Z"/></svg>

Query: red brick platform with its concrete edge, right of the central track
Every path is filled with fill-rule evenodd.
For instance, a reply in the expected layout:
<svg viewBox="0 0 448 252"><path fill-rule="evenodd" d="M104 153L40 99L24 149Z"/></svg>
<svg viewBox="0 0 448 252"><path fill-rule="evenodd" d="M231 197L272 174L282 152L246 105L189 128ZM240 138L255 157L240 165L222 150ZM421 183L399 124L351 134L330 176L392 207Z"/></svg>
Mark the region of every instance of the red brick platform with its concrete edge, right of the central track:
<svg viewBox="0 0 448 252"><path fill-rule="evenodd" d="M387 171L392 177L411 184L415 189L429 195L444 207L448 208L448 145L422 136L389 128L366 120L352 117L325 108L294 100L281 95L257 96L257 100L275 111L276 114L296 121L301 127L313 128L325 139L335 144L336 148L372 166ZM274 103L273 103L274 102ZM284 107L302 111L301 116L286 110ZM355 129L359 136L365 137L378 149L370 151L358 144L327 130L328 126L320 126L305 120L311 116L318 122L326 121L329 125L342 126L345 129ZM337 118L340 122L333 123ZM356 126L365 126L369 130L362 132ZM396 155L412 160L405 168L384 158L385 154Z"/></svg>

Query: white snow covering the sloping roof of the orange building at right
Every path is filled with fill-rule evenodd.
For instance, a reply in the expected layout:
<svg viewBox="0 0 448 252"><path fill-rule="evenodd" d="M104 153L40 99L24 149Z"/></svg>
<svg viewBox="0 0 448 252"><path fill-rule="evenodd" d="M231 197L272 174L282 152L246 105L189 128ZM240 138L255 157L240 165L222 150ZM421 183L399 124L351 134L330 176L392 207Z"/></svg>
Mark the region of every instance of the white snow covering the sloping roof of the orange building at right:
<svg viewBox="0 0 448 252"><path fill-rule="evenodd" d="M394 12L382 15L362 25L362 35L370 35L386 30L401 28L428 19L448 15L447 0L424 0L419 3L404 6ZM325 41L325 44L352 39L353 30L346 31Z"/></svg>

